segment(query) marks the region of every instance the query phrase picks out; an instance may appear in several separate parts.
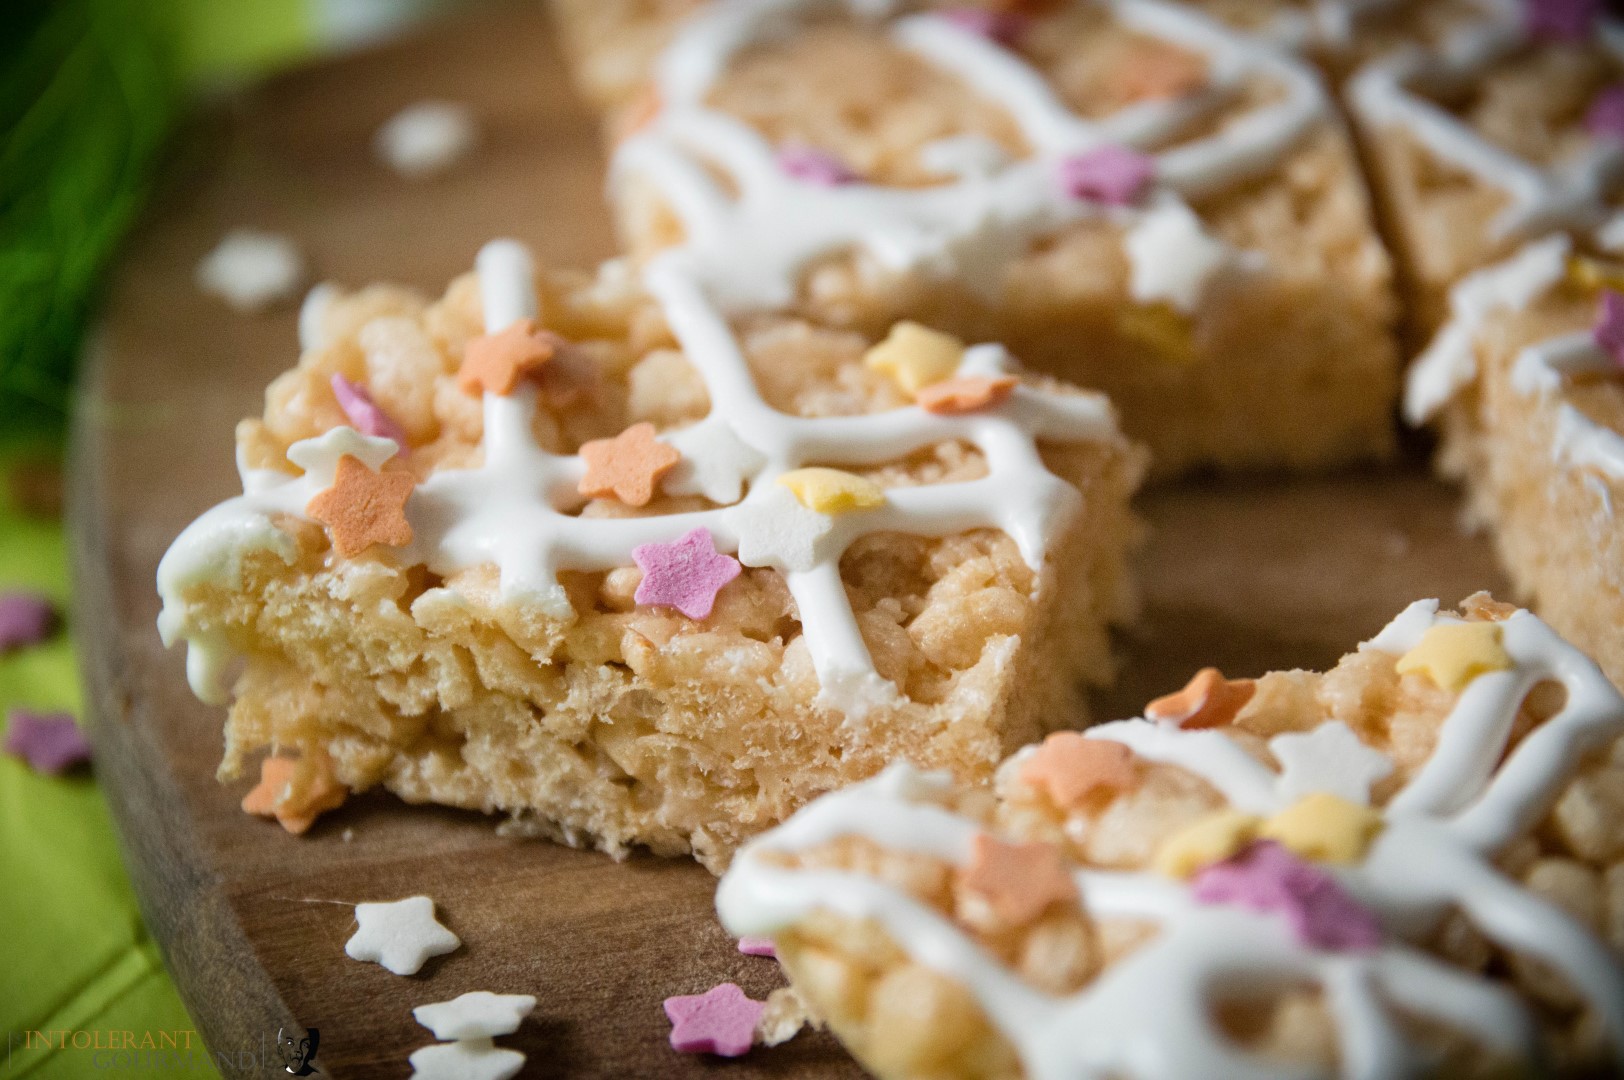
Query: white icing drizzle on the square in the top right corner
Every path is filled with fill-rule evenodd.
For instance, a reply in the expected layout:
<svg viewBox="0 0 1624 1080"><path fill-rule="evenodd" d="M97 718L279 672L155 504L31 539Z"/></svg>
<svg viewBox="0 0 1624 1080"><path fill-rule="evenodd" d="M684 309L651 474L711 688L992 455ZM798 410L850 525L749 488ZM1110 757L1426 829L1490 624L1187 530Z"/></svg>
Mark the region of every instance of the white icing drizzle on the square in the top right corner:
<svg viewBox="0 0 1624 1080"><path fill-rule="evenodd" d="M1566 229L1605 242L1624 229L1624 214L1608 200L1608 187L1624 172L1624 146L1593 140L1572 161L1543 167L1497 146L1413 89L1421 83L1444 89L1470 86L1525 47L1530 41L1525 19L1518 5L1512 8L1462 24L1436 50L1408 47L1371 63L1350 80L1348 101L1364 123L1402 128L1431 154L1504 190L1509 206L1489 224L1492 239ZM1605 26L1598 41L1624 60L1624 39L1616 26Z"/></svg>

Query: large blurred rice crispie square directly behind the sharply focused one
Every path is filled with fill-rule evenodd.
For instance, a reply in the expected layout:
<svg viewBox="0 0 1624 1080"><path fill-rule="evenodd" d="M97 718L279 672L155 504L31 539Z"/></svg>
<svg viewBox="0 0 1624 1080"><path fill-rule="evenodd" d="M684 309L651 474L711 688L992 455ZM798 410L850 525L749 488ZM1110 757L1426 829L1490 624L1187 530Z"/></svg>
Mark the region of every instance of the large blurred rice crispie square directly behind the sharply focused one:
<svg viewBox="0 0 1624 1080"><path fill-rule="evenodd" d="M1155 0L677 6L562 5L640 261L729 310L1004 341L1161 474L1390 450L1389 263L1307 62Z"/></svg>

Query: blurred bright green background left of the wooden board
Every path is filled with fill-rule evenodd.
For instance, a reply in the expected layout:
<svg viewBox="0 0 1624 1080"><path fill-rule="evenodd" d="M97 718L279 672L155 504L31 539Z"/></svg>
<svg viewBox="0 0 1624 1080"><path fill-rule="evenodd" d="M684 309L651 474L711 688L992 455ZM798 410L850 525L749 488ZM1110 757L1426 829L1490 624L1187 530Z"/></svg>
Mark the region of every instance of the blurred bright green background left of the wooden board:
<svg viewBox="0 0 1624 1080"><path fill-rule="evenodd" d="M60 455L75 361L104 273L188 109L310 57L362 47L453 0L5 0L0 3L0 604L55 609L6 646L0 713L78 716ZM3 617L0 617L3 622ZM86 767L0 754L0 1077L120 1075L28 1033L192 1031L141 926ZM47 1039L50 1043L50 1039ZM218 1075L201 1043L171 1061ZM149 1072L149 1070L148 1070Z"/></svg>

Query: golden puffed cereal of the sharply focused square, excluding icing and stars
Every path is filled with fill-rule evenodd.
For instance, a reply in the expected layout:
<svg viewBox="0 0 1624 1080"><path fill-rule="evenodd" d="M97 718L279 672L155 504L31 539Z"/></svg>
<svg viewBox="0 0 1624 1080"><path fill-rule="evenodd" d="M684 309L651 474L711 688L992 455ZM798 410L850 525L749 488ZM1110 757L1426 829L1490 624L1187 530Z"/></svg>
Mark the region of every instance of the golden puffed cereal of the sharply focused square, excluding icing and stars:
<svg viewBox="0 0 1624 1080"><path fill-rule="evenodd" d="M542 382L542 447L572 453L635 422L667 429L705 414L703 385L658 309L614 268L596 281L544 274L541 291L546 328L585 364L565 395ZM479 400L456 387L461 349L481 331L471 276L434 304L365 289L323 318L328 343L278 378L263 417L239 429L250 466L291 469L292 442L344 422L335 374L367 385L411 434L403 468L419 479L479 460ZM869 341L856 333L778 317L749 318L739 333L780 409L903 404L862 365ZM615 854L692 851L713 869L742 838L898 757L984 780L1013 747L1083 721L1083 684L1111 671L1106 622L1132 609L1124 559L1137 536L1127 499L1138 451L1056 445L1044 456L1083 490L1086 512L1041 573L987 529L874 534L844 555L875 666L909 698L867 724L814 705L796 607L773 570L747 568L705 622L640 607L635 567L567 573L577 616L557 620L500 599L492 567L440 578L383 547L338 559L320 526L286 520L291 565L248 555L240 583L184 596L190 624L247 656L221 776L265 749L325 749L357 791L505 812ZM978 450L950 442L864 473L901 486L984 469ZM641 508L598 499L581 513L708 505L659 494Z"/></svg>

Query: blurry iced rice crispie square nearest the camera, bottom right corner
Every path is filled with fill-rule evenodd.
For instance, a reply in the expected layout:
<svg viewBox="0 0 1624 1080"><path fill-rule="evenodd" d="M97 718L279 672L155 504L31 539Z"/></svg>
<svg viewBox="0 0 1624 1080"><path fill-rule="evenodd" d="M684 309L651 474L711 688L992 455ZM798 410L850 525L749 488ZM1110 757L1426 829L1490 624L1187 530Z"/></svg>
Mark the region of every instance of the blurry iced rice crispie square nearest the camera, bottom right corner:
<svg viewBox="0 0 1624 1080"><path fill-rule="evenodd" d="M1486 594L1333 669L1207 669L996 791L908 763L749 843L771 937L883 1080L1616 1075L1624 698Z"/></svg>

